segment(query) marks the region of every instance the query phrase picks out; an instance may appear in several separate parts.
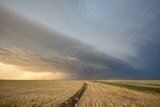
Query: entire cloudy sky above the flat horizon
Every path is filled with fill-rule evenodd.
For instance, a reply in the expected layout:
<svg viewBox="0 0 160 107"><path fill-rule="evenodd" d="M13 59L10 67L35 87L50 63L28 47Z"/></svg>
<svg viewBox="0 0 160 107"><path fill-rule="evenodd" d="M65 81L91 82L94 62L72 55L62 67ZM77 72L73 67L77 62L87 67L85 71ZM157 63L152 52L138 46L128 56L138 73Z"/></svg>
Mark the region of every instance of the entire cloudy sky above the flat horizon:
<svg viewBox="0 0 160 107"><path fill-rule="evenodd" d="M160 79L159 10L159 0L0 0L0 79Z"/></svg>

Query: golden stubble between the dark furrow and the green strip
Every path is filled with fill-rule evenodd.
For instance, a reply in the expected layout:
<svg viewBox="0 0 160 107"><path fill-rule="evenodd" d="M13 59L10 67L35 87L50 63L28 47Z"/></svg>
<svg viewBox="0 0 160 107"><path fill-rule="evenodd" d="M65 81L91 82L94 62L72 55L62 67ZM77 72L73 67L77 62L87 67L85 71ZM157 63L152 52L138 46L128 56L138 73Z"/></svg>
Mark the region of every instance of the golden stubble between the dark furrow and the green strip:
<svg viewBox="0 0 160 107"><path fill-rule="evenodd" d="M88 88L78 107L159 107L160 95L142 93L97 82L88 82Z"/></svg>

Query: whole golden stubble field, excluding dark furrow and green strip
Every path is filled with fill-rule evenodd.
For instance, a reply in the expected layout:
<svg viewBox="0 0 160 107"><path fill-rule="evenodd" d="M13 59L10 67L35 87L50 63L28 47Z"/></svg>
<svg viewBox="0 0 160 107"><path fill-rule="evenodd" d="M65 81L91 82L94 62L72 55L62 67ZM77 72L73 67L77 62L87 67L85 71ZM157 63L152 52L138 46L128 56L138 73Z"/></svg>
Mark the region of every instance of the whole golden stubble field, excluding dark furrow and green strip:
<svg viewBox="0 0 160 107"><path fill-rule="evenodd" d="M92 81L0 81L0 107L58 107L87 87L76 107L159 107L160 93L140 92ZM159 87L160 81L112 81Z"/></svg>

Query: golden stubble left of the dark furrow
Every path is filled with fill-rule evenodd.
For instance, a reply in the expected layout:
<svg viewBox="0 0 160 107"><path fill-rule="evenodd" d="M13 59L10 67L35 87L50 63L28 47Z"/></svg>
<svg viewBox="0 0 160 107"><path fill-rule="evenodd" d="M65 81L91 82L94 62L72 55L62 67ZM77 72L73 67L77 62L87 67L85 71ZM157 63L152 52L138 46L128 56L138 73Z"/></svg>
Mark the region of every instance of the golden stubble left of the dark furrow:
<svg viewBox="0 0 160 107"><path fill-rule="evenodd" d="M0 81L0 107L55 107L77 92L81 81Z"/></svg>

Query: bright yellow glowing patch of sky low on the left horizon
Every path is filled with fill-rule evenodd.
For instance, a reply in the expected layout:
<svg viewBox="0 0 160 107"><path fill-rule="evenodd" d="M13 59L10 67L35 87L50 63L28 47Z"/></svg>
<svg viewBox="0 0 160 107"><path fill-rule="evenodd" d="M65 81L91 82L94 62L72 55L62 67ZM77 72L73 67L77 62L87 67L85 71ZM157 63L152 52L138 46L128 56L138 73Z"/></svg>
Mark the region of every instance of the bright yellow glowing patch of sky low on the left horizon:
<svg viewBox="0 0 160 107"><path fill-rule="evenodd" d="M0 79L9 80L57 80L68 79L69 75L63 72L33 72L23 71L17 66L0 63Z"/></svg>

